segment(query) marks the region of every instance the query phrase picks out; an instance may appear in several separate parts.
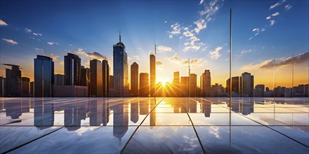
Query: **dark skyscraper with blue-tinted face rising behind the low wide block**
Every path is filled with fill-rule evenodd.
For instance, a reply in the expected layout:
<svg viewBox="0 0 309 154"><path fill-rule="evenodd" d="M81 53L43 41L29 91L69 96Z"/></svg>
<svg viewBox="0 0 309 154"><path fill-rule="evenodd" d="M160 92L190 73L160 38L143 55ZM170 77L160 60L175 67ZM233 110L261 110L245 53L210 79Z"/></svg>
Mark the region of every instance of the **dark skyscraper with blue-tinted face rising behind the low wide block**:
<svg viewBox="0 0 309 154"><path fill-rule="evenodd" d="M81 84L81 59L78 55L65 55L65 85Z"/></svg>

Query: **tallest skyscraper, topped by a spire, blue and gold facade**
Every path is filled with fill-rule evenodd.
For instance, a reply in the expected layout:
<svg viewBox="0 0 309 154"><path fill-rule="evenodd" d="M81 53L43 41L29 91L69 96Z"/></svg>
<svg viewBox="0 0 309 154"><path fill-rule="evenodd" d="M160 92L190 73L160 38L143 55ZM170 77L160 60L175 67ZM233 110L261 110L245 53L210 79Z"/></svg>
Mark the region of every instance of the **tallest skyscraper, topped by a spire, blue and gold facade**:
<svg viewBox="0 0 309 154"><path fill-rule="evenodd" d="M129 90L128 83L128 55L126 54L126 47L121 42L121 35L119 34L119 43L113 45L113 71L114 71L114 96L125 97Z"/></svg>

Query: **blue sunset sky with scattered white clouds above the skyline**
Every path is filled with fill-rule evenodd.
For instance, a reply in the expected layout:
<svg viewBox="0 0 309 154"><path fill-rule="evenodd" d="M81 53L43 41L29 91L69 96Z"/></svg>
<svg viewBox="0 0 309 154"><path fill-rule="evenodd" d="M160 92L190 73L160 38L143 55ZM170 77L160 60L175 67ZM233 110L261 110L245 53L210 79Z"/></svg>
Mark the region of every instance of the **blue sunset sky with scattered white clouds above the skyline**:
<svg viewBox="0 0 309 154"><path fill-rule="evenodd" d="M22 76L33 76L36 55L54 57L55 73L63 73L63 57L78 54L82 63L107 57L112 45L126 45L129 65L149 72L149 53L157 44L157 79L171 81L173 71L198 76L211 70L212 84L228 78L229 22L232 8L233 76L254 73L256 83L271 80L263 65L276 59L308 55L308 1L1 1L0 63L18 64ZM92 54L91 54L92 53ZM94 54L93 54L94 53ZM98 54L99 53L99 54ZM301 58L305 55L299 55ZM296 80L305 82L304 60L296 62ZM279 66L279 65L278 65ZM4 75L5 66L1 66ZM297 69L298 68L298 69ZM265 73L268 72L268 73ZM267 74L268 78L258 78ZM261 80L261 81L260 81ZM282 78L284 80L289 78ZM269 84L271 82L269 81ZM289 85L289 84L286 84Z"/></svg>

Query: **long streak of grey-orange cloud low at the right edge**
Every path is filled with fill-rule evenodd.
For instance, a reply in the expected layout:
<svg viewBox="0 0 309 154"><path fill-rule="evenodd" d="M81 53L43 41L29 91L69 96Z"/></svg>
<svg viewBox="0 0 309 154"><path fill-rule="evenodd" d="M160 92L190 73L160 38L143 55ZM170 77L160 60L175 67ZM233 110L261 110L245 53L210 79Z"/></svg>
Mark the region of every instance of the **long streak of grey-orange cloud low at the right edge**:
<svg viewBox="0 0 309 154"><path fill-rule="evenodd" d="M308 62L309 52L304 52L296 57L282 57L275 59L275 66L287 66L294 64L302 64L303 62ZM274 59L267 59L258 64L246 64L242 66L242 70L254 70L254 69L273 69L274 68Z"/></svg>

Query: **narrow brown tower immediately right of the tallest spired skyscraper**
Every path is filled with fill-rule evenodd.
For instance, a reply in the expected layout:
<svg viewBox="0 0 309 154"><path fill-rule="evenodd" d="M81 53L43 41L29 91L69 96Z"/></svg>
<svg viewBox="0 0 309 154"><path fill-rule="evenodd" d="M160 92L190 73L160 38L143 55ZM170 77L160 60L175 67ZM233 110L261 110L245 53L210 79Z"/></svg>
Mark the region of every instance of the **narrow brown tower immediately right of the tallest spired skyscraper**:
<svg viewBox="0 0 309 154"><path fill-rule="evenodd" d="M138 64L131 64L131 94L133 97L138 96Z"/></svg>

